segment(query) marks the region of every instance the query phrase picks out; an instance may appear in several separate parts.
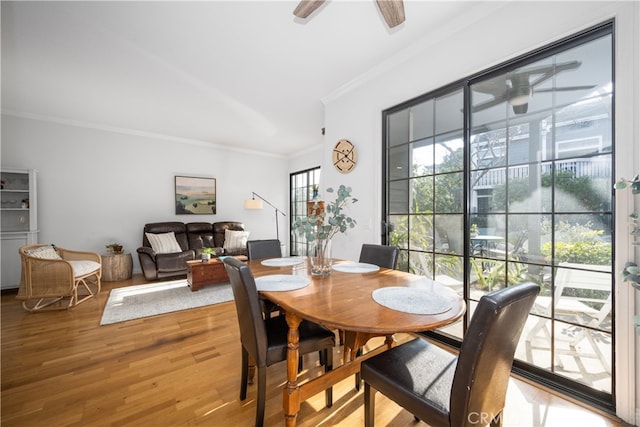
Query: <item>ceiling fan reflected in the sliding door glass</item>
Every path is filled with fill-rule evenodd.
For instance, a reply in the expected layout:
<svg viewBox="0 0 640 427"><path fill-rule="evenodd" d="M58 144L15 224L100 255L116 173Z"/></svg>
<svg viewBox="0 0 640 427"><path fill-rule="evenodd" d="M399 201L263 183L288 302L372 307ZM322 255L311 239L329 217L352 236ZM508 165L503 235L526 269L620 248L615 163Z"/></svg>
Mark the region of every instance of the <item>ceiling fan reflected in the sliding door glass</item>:
<svg viewBox="0 0 640 427"><path fill-rule="evenodd" d="M513 107L515 114L524 114L529 108L529 101L533 97L534 92L593 89L595 86L567 86L549 89L535 88L554 75L562 71L575 70L580 67L580 65L580 61L541 65L509 72L493 79L478 82L473 85L473 90L493 95L493 99L473 106L471 111L475 113L506 101Z"/></svg>

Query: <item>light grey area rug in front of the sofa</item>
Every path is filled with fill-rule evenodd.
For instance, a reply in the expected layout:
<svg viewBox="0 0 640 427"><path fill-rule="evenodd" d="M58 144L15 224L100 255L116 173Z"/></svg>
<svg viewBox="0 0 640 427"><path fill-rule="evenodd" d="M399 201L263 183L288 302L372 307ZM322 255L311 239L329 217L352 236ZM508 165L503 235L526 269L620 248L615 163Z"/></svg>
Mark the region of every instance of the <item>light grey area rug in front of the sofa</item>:
<svg viewBox="0 0 640 427"><path fill-rule="evenodd" d="M186 280L112 289L100 325L188 310L233 300L230 284L205 286L191 292Z"/></svg>

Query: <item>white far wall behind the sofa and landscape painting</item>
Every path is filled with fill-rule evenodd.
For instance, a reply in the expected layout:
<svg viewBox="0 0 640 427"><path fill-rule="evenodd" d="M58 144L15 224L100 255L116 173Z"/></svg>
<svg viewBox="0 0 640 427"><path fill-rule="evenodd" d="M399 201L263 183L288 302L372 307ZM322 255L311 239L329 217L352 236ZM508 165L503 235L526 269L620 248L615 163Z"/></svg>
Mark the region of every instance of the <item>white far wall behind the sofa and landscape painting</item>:
<svg viewBox="0 0 640 427"><path fill-rule="evenodd" d="M265 239L275 238L275 211L245 210L244 200L255 191L287 211L284 158L5 115L1 148L2 167L38 170L40 242L102 253L118 241L134 272L145 223L242 221ZM216 214L175 215L175 175L216 178ZM279 226L286 237L286 218Z"/></svg>

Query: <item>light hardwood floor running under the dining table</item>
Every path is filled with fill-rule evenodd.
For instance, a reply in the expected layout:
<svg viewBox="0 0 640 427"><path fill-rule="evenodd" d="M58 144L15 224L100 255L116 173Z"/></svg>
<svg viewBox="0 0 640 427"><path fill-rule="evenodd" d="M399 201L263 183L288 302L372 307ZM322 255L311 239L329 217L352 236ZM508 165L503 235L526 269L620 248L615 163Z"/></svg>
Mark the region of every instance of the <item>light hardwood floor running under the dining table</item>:
<svg viewBox="0 0 640 427"><path fill-rule="evenodd" d="M72 310L28 313L2 295L3 426L251 426L255 386L240 402L240 344L233 302L100 326L112 288L144 283L135 275L104 282L100 295ZM336 348L334 360L341 360ZM336 362L337 363L337 362ZM303 375L318 375L317 356ZM284 364L269 369L266 425L283 425ZM362 388L353 378L302 404L299 426L363 425ZM413 416L377 393L379 426L413 426ZM424 424L422 424L424 425ZM505 427L625 426L512 379Z"/></svg>

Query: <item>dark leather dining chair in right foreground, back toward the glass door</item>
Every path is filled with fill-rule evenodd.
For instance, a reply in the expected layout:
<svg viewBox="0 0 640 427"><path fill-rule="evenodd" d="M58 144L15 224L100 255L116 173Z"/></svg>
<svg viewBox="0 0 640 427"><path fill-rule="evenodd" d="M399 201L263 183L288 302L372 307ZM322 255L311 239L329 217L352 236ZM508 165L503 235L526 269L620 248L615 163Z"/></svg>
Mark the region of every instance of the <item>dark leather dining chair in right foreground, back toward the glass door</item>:
<svg viewBox="0 0 640 427"><path fill-rule="evenodd" d="M365 426L374 425L376 390L433 427L501 425L516 346L539 292L525 283L484 295L458 356L416 338L362 362Z"/></svg>

